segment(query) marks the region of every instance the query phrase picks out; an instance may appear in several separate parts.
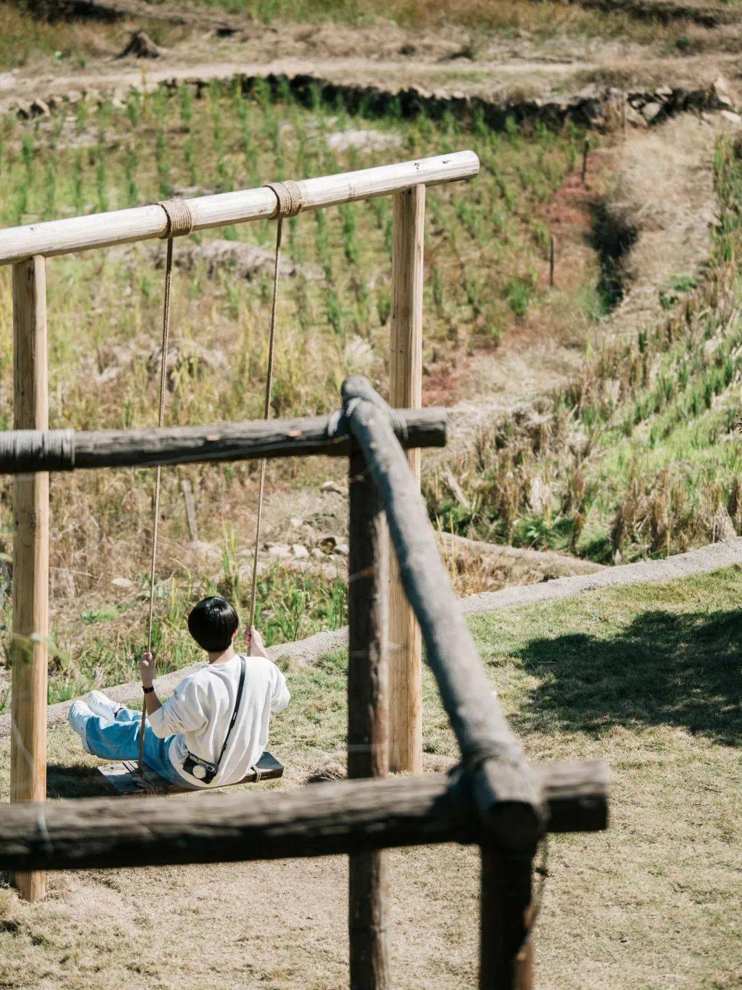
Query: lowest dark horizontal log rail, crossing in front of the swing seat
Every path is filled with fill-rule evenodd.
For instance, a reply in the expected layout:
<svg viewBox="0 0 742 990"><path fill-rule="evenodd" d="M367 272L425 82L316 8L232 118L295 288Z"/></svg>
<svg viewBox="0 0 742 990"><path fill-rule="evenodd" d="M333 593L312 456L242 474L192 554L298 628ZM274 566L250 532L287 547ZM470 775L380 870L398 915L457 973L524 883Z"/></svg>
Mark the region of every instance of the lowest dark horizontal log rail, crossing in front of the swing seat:
<svg viewBox="0 0 742 990"><path fill-rule="evenodd" d="M532 767L551 832L606 824L599 760ZM56 870L334 855L434 842L477 842L466 774L313 784L261 794L4 805L0 869Z"/></svg>

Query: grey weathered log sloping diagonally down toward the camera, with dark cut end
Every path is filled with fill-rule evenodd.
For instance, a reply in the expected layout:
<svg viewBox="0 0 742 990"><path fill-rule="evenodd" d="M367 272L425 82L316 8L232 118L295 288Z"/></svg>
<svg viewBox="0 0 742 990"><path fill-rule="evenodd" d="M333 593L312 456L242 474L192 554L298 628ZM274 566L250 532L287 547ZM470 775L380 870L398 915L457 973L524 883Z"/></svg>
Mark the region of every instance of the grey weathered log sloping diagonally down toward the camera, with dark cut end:
<svg viewBox="0 0 742 990"><path fill-rule="evenodd" d="M402 583L443 707L464 763L479 768L478 804L490 821L491 839L506 848L510 843L533 847L543 827L541 795L493 694L440 559L417 482L395 437L397 414L390 417L365 378L347 378L342 397L348 428L381 490Z"/></svg>

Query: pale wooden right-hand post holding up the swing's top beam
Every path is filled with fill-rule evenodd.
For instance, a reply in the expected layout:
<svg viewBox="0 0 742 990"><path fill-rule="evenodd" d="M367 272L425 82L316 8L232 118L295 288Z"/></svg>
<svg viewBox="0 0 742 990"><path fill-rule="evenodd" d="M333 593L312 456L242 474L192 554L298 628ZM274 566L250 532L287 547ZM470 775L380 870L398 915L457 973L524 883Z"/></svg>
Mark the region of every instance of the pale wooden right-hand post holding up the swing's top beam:
<svg viewBox="0 0 742 990"><path fill-rule="evenodd" d="M425 187L394 194L392 340L389 403L418 409L422 399L422 248ZM408 459L419 480L419 450ZM392 553L389 584L392 770L417 773L422 761L422 646Z"/></svg>

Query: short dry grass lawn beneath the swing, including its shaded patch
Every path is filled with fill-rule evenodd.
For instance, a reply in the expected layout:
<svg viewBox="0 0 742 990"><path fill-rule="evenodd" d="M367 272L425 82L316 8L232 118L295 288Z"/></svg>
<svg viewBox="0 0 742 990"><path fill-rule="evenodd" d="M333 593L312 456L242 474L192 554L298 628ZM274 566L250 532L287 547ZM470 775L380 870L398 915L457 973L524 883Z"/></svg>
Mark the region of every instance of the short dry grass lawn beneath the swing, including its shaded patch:
<svg viewBox="0 0 742 990"><path fill-rule="evenodd" d="M528 755L610 765L609 830L549 841L539 987L739 986L741 604L734 567L472 618ZM282 787L337 763L344 736L343 658L289 680L271 739L288 764ZM49 743L51 794L91 793L92 758L66 728ZM424 748L430 769L455 756L427 675ZM7 799L7 775L2 789ZM396 851L392 877L396 985L471 985L476 850ZM49 887L35 906L0 888L4 988L195 988L206 971L214 988L347 979L340 857L63 873Z"/></svg>

